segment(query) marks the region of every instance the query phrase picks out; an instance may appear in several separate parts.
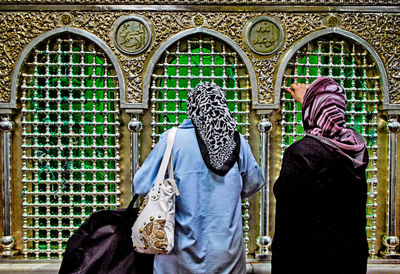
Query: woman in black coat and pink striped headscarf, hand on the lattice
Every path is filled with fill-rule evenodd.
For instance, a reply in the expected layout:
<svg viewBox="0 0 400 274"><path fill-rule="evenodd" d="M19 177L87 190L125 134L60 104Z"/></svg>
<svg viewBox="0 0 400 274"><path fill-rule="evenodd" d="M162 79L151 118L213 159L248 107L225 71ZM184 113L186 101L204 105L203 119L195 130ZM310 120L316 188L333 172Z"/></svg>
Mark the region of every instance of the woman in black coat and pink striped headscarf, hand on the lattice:
<svg viewBox="0 0 400 274"><path fill-rule="evenodd" d="M364 138L346 128L344 89L320 77L288 90L306 136L285 151L274 185L272 273L366 273Z"/></svg>

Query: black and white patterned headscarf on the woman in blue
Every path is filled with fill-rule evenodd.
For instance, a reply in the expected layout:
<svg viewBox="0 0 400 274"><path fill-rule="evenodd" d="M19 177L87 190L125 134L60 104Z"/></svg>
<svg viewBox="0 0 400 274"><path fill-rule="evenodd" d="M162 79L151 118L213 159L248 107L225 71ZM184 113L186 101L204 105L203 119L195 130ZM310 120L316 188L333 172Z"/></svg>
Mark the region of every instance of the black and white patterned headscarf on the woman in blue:
<svg viewBox="0 0 400 274"><path fill-rule="evenodd" d="M224 91L214 83L197 85L189 93L187 113L206 166L218 175L225 175L238 160L240 135Z"/></svg>

